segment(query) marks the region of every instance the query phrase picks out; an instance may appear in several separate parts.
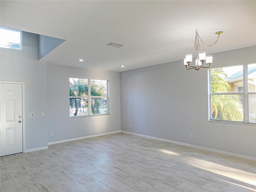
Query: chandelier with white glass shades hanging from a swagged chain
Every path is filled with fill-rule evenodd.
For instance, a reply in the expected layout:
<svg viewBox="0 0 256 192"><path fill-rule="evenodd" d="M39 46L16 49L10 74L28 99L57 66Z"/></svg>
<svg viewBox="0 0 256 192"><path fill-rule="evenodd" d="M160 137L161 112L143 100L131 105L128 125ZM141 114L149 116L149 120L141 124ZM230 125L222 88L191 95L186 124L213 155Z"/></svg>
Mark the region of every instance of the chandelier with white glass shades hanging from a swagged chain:
<svg viewBox="0 0 256 192"><path fill-rule="evenodd" d="M218 41L220 35L223 33L223 31L218 31L215 34L218 35L217 40L214 42L214 44L208 45L202 41L200 38L197 30L196 30L196 38L194 43L194 49L196 50L196 66L192 66L192 54L186 54L186 58L184 58L184 66L189 69L195 69L199 71L201 68L210 68L210 65L212 64L212 55L206 56L206 52L199 52L200 45L199 45L199 39L201 42L206 46L213 46ZM204 63L206 63L207 67L204 66Z"/></svg>

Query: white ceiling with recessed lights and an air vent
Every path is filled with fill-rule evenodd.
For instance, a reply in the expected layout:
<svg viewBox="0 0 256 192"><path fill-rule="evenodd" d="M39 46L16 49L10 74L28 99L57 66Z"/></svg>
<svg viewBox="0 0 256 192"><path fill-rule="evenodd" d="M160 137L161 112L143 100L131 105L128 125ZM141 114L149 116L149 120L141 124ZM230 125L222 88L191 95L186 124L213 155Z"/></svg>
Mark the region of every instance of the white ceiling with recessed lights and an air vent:
<svg viewBox="0 0 256 192"><path fill-rule="evenodd" d="M57 65L125 71L183 60L196 56L196 29L207 44L224 32L216 45L200 44L206 54L256 45L255 0L1 0L0 6L1 26L66 40L41 59Z"/></svg>

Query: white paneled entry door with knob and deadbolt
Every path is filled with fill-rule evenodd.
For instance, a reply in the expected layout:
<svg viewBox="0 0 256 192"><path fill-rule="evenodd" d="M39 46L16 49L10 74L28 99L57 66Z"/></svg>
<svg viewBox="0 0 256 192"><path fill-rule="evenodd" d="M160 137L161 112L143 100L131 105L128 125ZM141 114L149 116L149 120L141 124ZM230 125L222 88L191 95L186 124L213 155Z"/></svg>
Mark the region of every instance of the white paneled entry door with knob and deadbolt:
<svg viewBox="0 0 256 192"><path fill-rule="evenodd" d="M1 83L0 156L23 152L22 84Z"/></svg>

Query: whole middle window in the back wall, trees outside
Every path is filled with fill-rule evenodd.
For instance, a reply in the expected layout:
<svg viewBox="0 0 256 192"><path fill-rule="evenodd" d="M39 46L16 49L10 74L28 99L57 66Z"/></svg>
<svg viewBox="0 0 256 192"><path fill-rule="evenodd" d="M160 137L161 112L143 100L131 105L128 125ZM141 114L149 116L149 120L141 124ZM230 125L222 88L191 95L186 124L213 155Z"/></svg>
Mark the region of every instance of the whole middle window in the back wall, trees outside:
<svg viewBox="0 0 256 192"><path fill-rule="evenodd" d="M108 114L108 80L69 78L69 98L70 117Z"/></svg>

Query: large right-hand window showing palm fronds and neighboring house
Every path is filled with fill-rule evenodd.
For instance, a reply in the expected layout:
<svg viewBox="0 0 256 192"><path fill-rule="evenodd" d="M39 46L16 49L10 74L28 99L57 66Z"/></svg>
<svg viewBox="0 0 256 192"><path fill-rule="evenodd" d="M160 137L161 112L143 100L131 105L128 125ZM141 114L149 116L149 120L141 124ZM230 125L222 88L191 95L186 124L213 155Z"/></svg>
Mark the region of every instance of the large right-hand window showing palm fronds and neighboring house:
<svg viewBox="0 0 256 192"><path fill-rule="evenodd" d="M256 64L210 69L210 120L256 123Z"/></svg>

